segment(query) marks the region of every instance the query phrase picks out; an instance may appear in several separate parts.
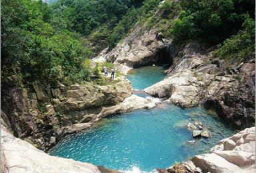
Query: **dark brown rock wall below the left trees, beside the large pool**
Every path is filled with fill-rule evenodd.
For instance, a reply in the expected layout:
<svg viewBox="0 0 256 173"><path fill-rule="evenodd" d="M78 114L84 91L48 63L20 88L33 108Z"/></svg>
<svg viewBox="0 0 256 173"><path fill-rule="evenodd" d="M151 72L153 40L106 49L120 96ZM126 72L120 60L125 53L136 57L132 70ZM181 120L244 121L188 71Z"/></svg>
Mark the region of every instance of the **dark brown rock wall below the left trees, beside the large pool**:
<svg viewBox="0 0 256 173"><path fill-rule="evenodd" d="M35 83L31 89L14 82L2 85L1 93L1 123L14 136L42 150L49 150L65 134L88 128L104 116L101 110L120 104L132 94L127 81L56 88Z"/></svg>

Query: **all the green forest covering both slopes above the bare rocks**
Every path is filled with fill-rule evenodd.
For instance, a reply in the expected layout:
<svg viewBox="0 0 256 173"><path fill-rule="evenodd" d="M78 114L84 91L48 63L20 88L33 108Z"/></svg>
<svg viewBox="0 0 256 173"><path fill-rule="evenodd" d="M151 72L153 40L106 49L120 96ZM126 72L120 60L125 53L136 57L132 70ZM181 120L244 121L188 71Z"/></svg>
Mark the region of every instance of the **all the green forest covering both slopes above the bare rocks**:
<svg viewBox="0 0 256 173"><path fill-rule="evenodd" d="M89 58L111 50L135 25L157 27L179 44L213 46L229 61L254 58L255 1L250 0L1 1L1 80L51 85L100 75ZM97 68L97 67L96 67Z"/></svg>

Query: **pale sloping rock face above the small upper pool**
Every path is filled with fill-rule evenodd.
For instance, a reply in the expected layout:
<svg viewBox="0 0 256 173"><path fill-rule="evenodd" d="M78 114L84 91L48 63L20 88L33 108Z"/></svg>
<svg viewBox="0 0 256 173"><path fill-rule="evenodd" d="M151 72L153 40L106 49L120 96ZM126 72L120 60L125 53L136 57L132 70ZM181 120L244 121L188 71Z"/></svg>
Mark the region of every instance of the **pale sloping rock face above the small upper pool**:
<svg viewBox="0 0 256 173"><path fill-rule="evenodd" d="M139 67L157 63L157 53L164 45L164 41L157 37L157 29L141 32L141 27L124 39L122 43L112 49L106 56L115 65ZM141 34L142 33L142 34Z"/></svg>

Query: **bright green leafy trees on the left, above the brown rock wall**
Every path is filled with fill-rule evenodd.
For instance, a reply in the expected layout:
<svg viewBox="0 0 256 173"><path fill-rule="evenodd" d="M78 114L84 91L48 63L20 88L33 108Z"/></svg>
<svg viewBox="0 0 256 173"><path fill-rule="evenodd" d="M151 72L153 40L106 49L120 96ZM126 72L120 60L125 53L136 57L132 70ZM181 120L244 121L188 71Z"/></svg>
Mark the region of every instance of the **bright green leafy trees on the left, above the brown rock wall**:
<svg viewBox="0 0 256 173"><path fill-rule="evenodd" d="M79 35L54 25L51 9L42 1L1 2L1 79L11 75L27 83L54 84L89 80L83 62L90 51Z"/></svg>

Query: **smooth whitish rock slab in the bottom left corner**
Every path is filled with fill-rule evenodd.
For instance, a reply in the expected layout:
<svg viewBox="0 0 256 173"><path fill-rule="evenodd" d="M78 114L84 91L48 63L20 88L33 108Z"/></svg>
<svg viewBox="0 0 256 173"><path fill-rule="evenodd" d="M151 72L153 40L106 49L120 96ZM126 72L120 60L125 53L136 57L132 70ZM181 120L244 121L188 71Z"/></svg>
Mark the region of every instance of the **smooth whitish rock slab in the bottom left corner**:
<svg viewBox="0 0 256 173"><path fill-rule="evenodd" d="M87 172L100 173L93 164L49 156L28 142L1 128L1 171L3 172Z"/></svg>

